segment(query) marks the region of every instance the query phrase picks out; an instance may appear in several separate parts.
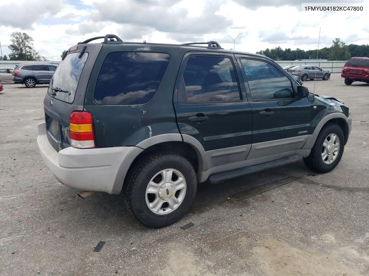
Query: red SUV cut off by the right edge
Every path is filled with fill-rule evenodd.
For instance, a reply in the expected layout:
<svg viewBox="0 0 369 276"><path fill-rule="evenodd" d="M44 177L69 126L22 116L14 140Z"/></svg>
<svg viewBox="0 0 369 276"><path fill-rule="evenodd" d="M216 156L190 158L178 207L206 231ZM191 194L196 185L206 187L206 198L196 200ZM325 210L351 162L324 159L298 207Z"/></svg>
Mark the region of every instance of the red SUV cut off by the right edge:
<svg viewBox="0 0 369 276"><path fill-rule="evenodd" d="M352 57L342 68L341 77L345 78L345 84L350 85L354 81L369 83L369 57Z"/></svg>

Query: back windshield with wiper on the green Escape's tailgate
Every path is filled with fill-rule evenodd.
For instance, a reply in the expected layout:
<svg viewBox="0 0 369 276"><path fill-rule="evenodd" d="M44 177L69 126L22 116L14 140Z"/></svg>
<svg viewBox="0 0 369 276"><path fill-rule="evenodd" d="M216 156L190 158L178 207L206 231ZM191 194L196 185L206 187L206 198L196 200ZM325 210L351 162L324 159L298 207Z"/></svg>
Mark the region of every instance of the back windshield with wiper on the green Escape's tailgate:
<svg viewBox="0 0 369 276"><path fill-rule="evenodd" d="M55 99L73 103L79 78L88 57L86 52L83 53L81 58L78 58L79 54L68 54L56 68L48 89L49 95L51 91L56 93L56 95L53 95Z"/></svg>

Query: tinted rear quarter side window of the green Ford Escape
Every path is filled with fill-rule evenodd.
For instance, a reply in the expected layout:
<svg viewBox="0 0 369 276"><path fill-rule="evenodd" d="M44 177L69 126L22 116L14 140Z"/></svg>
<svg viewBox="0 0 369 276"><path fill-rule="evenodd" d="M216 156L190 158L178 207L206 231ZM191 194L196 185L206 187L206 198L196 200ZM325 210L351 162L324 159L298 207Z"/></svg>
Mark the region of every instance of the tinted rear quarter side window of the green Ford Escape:
<svg viewBox="0 0 369 276"><path fill-rule="evenodd" d="M98 105L140 105L154 96L169 63L169 54L114 52L97 78Z"/></svg>

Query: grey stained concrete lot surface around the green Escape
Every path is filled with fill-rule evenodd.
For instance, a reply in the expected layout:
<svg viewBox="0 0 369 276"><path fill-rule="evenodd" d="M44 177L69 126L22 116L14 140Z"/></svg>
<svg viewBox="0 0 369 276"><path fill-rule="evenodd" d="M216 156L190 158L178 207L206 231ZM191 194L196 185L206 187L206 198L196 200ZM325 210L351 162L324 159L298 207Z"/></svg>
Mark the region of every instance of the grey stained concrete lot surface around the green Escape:
<svg viewBox="0 0 369 276"><path fill-rule="evenodd" d="M163 229L136 222L120 195L82 199L50 174L36 142L46 87L0 92L1 276L369 275L368 84L316 81L353 118L331 173L299 163L201 184L189 214Z"/></svg>

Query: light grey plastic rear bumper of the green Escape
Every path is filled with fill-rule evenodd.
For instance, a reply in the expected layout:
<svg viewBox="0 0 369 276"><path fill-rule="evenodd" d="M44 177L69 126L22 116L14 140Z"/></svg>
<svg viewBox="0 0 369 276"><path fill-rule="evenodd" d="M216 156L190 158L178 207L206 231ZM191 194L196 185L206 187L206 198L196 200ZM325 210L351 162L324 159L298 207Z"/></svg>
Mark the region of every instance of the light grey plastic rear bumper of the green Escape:
<svg viewBox="0 0 369 276"><path fill-rule="evenodd" d="M125 173L122 180L116 181L118 171L127 155L134 149L138 149L137 147L120 146L96 149L69 147L56 152L46 136L45 122L39 123L37 130L39 152L45 165L59 182L79 191L119 194ZM128 170L130 164L124 164L123 167ZM122 175L121 172L118 175Z"/></svg>

